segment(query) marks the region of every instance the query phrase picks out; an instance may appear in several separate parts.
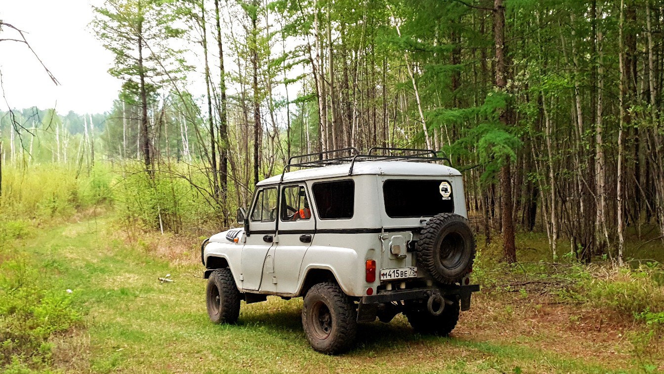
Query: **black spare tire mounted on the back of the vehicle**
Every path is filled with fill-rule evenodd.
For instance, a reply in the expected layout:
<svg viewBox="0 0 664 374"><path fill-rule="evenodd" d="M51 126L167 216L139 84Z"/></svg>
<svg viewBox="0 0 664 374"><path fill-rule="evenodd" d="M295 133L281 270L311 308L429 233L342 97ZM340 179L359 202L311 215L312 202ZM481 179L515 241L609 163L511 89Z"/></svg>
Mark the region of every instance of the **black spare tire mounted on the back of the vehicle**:
<svg viewBox="0 0 664 374"><path fill-rule="evenodd" d="M438 282L460 282L471 272L475 259L475 238L468 220L454 213L432 217L417 242L417 258Z"/></svg>

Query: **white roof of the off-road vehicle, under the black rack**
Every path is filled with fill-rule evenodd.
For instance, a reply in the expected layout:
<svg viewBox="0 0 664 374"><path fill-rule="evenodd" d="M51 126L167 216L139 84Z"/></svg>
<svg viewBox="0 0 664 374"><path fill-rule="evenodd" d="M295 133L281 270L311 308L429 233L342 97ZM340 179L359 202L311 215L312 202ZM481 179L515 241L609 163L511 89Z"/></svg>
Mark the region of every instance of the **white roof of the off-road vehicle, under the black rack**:
<svg viewBox="0 0 664 374"><path fill-rule="evenodd" d="M296 171L289 171L284 174L286 181L303 181L309 179L321 179L329 177L343 177L349 175L351 169L350 163L341 165L330 165L323 167L309 167ZM410 175L410 176L448 176L461 175L457 169L446 165L426 162L412 161L356 161L353 166L353 175L373 174L373 175ZM279 183L282 175L260 181L258 185L272 185Z"/></svg>

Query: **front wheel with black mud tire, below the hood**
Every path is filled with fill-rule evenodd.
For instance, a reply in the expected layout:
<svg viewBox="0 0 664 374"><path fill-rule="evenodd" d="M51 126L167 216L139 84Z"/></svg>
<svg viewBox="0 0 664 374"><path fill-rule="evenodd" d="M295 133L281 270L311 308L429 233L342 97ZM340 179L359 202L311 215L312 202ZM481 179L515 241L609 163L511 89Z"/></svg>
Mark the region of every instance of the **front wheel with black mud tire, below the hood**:
<svg viewBox="0 0 664 374"><path fill-rule="evenodd" d="M207 310L214 324L234 324L240 316L240 291L229 268L214 270L208 278Z"/></svg>

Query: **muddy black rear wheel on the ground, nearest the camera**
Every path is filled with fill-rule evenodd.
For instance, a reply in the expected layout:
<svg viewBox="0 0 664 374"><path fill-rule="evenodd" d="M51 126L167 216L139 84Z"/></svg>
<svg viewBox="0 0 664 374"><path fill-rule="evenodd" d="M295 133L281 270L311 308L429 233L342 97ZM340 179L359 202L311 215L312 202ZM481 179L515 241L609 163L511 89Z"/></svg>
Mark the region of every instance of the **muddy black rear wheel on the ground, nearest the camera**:
<svg viewBox="0 0 664 374"><path fill-rule="evenodd" d="M355 304L337 284L315 284L304 296L302 327L315 351L326 355L344 353L355 343Z"/></svg>

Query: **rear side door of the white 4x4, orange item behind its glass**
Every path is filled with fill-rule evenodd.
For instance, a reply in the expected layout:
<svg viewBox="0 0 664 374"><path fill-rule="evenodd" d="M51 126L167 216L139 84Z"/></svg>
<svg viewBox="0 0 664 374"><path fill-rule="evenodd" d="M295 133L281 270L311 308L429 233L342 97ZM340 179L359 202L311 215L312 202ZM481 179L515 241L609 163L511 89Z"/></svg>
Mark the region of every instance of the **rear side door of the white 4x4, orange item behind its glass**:
<svg viewBox="0 0 664 374"><path fill-rule="evenodd" d="M274 274L271 282L280 294L293 294L297 290L299 269L307 248L311 245L316 223L309 205L309 194L303 184L282 187L278 240L274 249ZM261 289L270 285L267 274Z"/></svg>

